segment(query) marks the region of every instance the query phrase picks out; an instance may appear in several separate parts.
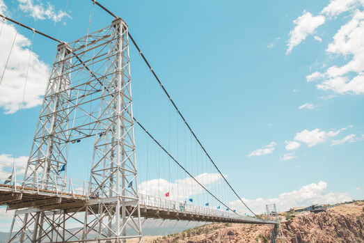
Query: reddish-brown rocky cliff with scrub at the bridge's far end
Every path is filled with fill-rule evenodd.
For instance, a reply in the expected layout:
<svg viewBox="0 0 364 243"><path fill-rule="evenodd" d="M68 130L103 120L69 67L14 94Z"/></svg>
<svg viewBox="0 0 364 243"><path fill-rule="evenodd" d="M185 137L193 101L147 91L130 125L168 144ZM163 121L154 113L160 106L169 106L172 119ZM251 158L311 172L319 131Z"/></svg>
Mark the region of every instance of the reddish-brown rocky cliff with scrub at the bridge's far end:
<svg viewBox="0 0 364 243"><path fill-rule="evenodd" d="M364 203L332 207L326 212L293 215L281 223L287 238L277 242L364 242ZM164 237L146 238L145 242L270 242L269 226L244 224L209 224Z"/></svg>

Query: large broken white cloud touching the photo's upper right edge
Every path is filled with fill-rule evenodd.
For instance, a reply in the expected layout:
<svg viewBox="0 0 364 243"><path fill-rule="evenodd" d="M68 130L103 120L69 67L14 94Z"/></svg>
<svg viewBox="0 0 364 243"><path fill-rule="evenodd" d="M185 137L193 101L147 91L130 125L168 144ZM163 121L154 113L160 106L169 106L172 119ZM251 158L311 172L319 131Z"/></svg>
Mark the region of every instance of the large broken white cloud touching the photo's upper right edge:
<svg viewBox="0 0 364 243"><path fill-rule="evenodd" d="M322 9L321 14L332 19L341 13L350 12L350 19L333 36L326 52L337 54L345 60L344 65L332 65L324 72L313 72L306 77L307 81L321 79L316 87L323 91L339 94L364 93L364 1L361 0L332 0ZM302 17L302 16L301 16ZM314 37L321 42L321 38Z"/></svg>

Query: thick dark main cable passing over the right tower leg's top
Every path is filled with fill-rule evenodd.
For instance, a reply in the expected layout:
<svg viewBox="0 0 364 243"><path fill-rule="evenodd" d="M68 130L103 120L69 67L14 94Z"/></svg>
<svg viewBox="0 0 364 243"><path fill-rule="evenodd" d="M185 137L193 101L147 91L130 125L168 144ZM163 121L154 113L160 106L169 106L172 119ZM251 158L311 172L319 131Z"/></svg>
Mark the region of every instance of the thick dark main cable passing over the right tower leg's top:
<svg viewBox="0 0 364 243"><path fill-rule="evenodd" d="M111 13L110 10L108 10L107 8L105 8L104 6L102 6L100 3L98 3L95 0L91 0L93 1L94 4L96 4L97 6L100 6L100 8L102 8L103 10L105 10L107 13L109 13L111 16L113 17L117 17L116 15L114 15L113 13ZM184 119L184 116L182 116L182 113L180 112L180 110L177 108L177 106L175 105L175 102L173 102L171 96L168 94L168 92L166 91L166 88L164 88L163 84L161 84L161 81L159 80L159 78L157 77L157 75L155 74L155 71L152 70L152 67L150 66L150 64L148 63L147 59L145 58L145 56L143 55L143 53L141 52L141 49L139 48L138 45L136 45L136 42L134 40L134 38L132 37L132 35L129 32L129 38L130 40L132 40L134 46L136 47L136 49L138 49L139 54L141 54L141 57L143 57L143 60L145 62L145 64L148 65L148 68L150 68L150 71L152 72L152 74L155 76L155 79L157 79L159 85L161 86L161 88L163 89L164 93L167 95L168 99L171 101L171 103L173 104L173 107L175 107L175 109L177 110L177 113L180 115L180 117L182 118L182 120L184 121L184 124L186 124L186 126L189 128L189 131L191 132L191 134L195 137L196 141L198 142L198 144L200 145L200 147L203 149L203 151L205 152L205 154L207 155L207 157L209 158L209 160L212 162L212 164L214 164L214 167L216 168L217 171L219 171L221 177L223 178L223 180L225 180L225 182L228 184L228 186L230 187L230 189L234 192L234 194L239 198L240 201L242 201L242 203L246 206L246 208L248 208L248 210L254 214L255 216L257 216L257 214L255 214L249 207L248 205L246 205L244 203L244 201L242 200L242 198L237 194L237 192L231 187L230 183L228 182L228 180L226 180L225 176L223 175L223 173L221 173L221 171L219 170L219 168L217 168L216 164L214 163L214 161L212 160L212 158L209 156L209 154L207 153L207 151L205 150L205 148L203 147L202 143L200 143L200 140L198 140L196 134L192 131L191 127L189 126L189 123L187 123L186 119Z"/></svg>

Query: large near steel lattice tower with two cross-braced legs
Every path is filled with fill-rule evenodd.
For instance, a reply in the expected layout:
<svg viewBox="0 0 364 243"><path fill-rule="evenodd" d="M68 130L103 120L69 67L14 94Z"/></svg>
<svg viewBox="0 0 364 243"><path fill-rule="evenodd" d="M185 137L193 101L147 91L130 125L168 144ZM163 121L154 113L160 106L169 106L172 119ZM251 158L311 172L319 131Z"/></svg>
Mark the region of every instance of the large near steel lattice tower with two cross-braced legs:
<svg viewBox="0 0 364 243"><path fill-rule="evenodd" d="M92 136L90 199L17 210L8 242L141 242L129 38L121 18L58 45L22 189L62 194L70 144ZM70 232L72 222L83 228Z"/></svg>

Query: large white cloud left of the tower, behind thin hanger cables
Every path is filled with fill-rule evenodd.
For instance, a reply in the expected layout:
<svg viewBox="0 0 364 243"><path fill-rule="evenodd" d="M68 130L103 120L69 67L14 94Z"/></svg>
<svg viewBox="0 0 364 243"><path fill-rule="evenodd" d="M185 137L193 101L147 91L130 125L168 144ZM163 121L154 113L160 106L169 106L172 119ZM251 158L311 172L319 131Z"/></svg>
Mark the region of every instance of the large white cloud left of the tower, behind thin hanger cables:
<svg viewBox="0 0 364 243"><path fill-rule="evenodd" d="M0 38L0 75L6 65L6 59L10 54L11 45L15 38L16 29L13 25L4 23ZM26 70L29 61L29 47L31 42L25 36L17 34L13 51L11 52L8 66L0 86L0 107L5 113L15 113L22 105L22 96L26 81ZM29 74L24 96L24 109L38 106L42 103L42 95L47 84L49 67L38 55L31 52ZM1 78L1 77L0 77Z"/></svg>

